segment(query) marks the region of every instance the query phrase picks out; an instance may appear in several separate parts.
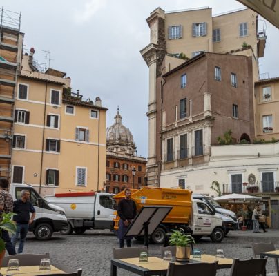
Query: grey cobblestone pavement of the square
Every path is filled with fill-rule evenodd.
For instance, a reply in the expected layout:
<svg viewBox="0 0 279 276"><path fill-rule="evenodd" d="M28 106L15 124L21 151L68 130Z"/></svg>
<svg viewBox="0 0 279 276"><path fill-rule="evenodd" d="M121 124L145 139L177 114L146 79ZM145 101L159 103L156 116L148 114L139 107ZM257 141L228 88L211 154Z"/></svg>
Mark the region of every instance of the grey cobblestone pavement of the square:
<svg viewBox="0 0 279 276"><path fill-rule="evenodd" d="M221 243L213 243L204 237L195 247L202 253L215 255L217 248L224 249L225 257L248 259L253 257L253 242L274 242L279 248L279 230L268 233L252 233L251 231L231 231ZM133 246L142 246L134 240ZM109 231L88 230L83 235L61 235L55 233L47 242L40 242L32 234L28 234L24 253L50 253L52 264L63 264L68 269L83 268L82 275L110 275L110 259L112 248L118 248L118 240ZM150 254L160 257L160 245L151 244ZM267 272L274 271L273 261L268 260ZM119 276L132 276L125 270L118 270ZM229 275L229 270L218 270L218 275Z"/></svg>

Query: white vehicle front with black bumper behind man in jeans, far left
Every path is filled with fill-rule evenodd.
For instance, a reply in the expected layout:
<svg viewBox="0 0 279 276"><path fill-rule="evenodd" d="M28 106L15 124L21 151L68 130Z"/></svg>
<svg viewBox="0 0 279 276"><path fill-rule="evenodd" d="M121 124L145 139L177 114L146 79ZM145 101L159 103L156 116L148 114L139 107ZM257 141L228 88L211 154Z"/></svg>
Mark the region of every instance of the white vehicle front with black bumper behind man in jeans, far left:
<svg viewBox="0 0 279 276"><path fill-rule="evenodd" d="M36 216L29 226L29 231L32 231L37 239L50 239L53 232L58 232L67 227L67 218L62 208L48 204L32 186L10 184L10 194L14 200L21 199L22 190L29 191L30 201L35 207Z"/></svg>

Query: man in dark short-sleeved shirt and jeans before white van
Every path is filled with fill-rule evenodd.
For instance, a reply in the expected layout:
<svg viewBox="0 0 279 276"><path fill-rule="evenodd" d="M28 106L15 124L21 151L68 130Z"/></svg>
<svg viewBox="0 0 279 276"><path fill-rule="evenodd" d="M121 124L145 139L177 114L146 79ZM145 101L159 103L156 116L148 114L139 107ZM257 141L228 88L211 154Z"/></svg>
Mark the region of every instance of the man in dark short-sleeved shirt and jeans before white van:
<svg viewBox="0 0 279 276"><path fill-rule="evenodd" d="M12 235L12 244L15 248L17 244L17 239L20 236L18 254L23 253L24 242L26 240L26 235L28 233L28 226L32 224L35 218L35 208L30 202L30 193L28 190L21 190L21 199L14 202L14 215L13 220L17 223L17 232ZM32 213L30 218L30 213Z"/></svg>

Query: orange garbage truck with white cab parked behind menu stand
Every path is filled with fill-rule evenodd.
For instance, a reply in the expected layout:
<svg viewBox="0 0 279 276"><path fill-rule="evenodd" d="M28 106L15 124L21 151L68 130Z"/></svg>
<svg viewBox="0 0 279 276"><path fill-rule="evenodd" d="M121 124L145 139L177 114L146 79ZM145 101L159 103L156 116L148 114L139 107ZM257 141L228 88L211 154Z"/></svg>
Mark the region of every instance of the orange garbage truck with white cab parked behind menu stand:
<svg viewBox="0 0 279 276"><path fill-rule="evenodd" d="M191 233L195 239L209 236L213 242L221 242L224 238L223 221L215 214L206 202L200 199L192 199L190 190L173 188L144 187L140 190L131 189L131 198L135 201L137 212L142 206L172 206L171 212L151 235L151 241L155 244L163 244L166 233L182 228ZM116 203L124 198L124 191L114 196ZM115 212L115 226L118 229L119 216ZM140 239L141 237L135 237Z"/></svg>

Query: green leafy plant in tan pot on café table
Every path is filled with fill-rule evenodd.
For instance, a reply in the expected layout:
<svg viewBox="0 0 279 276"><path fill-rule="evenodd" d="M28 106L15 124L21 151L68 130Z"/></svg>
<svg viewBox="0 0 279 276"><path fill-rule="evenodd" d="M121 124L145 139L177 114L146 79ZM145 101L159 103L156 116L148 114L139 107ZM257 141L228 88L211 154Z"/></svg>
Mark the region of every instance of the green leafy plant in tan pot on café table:
<svg viewBox="0 0 279 276"><path fill-rule="evenodd" d="M169 239L169 244L176 246L176 260L186 262L190 259L191 248L190 244L195 244L195 240L191 235L184 233L184 230L173 230L173 234Z"/></svg>

